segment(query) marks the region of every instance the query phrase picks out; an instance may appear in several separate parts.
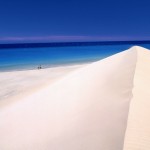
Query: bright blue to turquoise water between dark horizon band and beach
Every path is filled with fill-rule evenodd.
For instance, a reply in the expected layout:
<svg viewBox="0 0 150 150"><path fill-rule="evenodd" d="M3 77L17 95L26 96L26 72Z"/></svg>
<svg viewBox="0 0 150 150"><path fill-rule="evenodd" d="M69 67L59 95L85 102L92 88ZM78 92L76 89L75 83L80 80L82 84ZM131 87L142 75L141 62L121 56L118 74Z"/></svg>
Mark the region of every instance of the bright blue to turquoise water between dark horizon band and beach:
<svg viewBox="0 0 150 150"><path fill-rule="evenodd" d="M0 72L13 70L37 69L93 62L123 50L133 45L100 45L48 48L16 48L0 49ZM150 44L139 46L150 49Z"/></svg>

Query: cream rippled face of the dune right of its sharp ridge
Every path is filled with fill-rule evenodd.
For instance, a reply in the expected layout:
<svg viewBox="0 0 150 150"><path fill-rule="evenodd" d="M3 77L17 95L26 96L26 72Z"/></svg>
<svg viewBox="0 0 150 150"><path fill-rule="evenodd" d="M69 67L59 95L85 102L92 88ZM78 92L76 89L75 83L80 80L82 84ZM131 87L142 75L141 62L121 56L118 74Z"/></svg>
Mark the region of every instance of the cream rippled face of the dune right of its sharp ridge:
<svg viewBox="0 0 150 150"><path fill-rule="evenodd" d="M124 150L150 150L150 51L136 49L138 60Z"/></svg>

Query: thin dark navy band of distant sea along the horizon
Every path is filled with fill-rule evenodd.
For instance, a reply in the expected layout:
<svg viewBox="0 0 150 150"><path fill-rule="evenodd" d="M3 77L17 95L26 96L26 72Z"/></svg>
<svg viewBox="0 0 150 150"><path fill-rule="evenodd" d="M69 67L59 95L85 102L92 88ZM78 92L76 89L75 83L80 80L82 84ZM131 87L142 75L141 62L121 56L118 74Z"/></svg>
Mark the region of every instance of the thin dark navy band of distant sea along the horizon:
<svg viewBox="0 0 150 150"><path fill-rule="evenodd" d="M38 47L68 47L68 46L96 46L121 44L150 44L150 40L111 40L111 41L74 41L74 42L25 42L0 43L0 49L8 48L38 48Z"/></svg>

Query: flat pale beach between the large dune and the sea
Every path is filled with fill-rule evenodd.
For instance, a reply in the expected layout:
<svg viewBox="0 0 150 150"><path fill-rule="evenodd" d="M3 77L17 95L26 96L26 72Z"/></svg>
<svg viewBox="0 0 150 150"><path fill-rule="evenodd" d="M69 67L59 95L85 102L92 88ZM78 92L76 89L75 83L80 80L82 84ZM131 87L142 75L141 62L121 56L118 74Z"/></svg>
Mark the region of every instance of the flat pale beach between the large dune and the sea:
<svg viewBox="0 0 150 150"><path fill-rule="evenodd" d="M41 70L0 72L0 106L10 104L10 102L44 88L56 80L61 79L69 72L86 65L68 65Z"/></svg>

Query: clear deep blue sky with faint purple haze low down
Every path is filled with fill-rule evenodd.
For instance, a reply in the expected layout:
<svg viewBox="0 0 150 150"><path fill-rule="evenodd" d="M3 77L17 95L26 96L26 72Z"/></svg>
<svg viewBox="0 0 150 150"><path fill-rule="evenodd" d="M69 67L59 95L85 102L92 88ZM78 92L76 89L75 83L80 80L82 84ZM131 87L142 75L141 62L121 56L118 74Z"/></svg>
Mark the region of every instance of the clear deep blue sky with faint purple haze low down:
<svg viewBox="0 0 150 150"><path fill-rule="evenodd" d="M150 40L150 0L0 0L0 43Z"/></svg>

